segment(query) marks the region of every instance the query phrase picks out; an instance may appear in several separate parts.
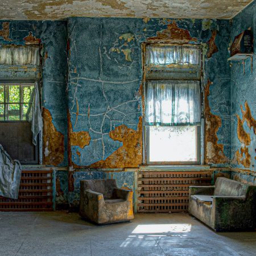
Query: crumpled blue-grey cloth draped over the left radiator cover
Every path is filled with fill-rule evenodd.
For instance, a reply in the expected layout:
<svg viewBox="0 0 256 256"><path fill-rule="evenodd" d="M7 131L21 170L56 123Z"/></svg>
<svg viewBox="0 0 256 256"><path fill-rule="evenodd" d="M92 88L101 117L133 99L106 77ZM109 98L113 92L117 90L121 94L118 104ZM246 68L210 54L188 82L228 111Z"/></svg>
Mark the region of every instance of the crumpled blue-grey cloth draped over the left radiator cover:
<svg viewBox="0 0 256 256"><path fill-rule="evenodd" d="M0 144L0 196L18 199L22 167Z"/></svg>

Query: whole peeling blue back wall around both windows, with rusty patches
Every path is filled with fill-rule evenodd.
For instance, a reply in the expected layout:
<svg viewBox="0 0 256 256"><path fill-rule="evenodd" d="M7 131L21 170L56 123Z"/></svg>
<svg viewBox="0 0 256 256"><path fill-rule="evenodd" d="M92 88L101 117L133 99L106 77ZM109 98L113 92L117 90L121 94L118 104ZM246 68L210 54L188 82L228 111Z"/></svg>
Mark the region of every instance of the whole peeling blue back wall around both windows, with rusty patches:
<svg viewBox="0 0 256 256"><path fill-rule="evenodd" d="M69 163L76 168L69 174L56 173L57 203L68 200L76 205L80 180L90 177L113 176L121 187L134 188L134 175L130 171L110 168L138 167L142 163L141 43L149 38L203 44L208 114L220 120L213 129L215 139L207 163L218 166L226 163L226 158L230 158L228 20L69 18L67 27L65 24L11 21L9 34L5 32L6 40L0 36L0 42L6 44L33 43L40 39L44 45L43 107L51 121L50 130L64 138L64 150L56 149L60 154L58 159L63 161L47 164L67 166L70 148ZM65 97L67 30L68 101ZM212 84L207 87L208 80ZM210 138L210 133L206 130L205 138ZM218 148L225 158L219 158ZM79 171L85 167L94 169Z"/></svg>

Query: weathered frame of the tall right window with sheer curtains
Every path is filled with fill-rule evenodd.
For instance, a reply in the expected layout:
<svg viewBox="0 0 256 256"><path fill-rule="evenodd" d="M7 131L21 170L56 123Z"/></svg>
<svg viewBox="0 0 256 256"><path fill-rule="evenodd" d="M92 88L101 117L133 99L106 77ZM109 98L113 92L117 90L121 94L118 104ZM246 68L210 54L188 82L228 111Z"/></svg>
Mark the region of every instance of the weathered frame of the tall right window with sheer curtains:
<svg viewBox="0 0 256 256"><path fill-rule="evenodd" d="M192 46L192 47L199 47L201 49L201 59L200 59L200 65L201 65L201 76L200 79L189 79L189 78L184 78L184 79L174 79L174 78L160 78L158 79L157 77L146 77L146 46L148 45L158 45L158 46ZM200 82L200 92L201 92L201 123L200 125L195 125L196 127L196 156L197 156L197 161L176 161L176 162L150 162L148 157L150 155L150 143L149 143L149 129L150 126L143 125L143 164L146 165L153 165L153 166L199 166L202 163L201 160L201 151L202 147L204 147L204 143L202 143L202 134L201 129L202 129L202 120L203 120L203 107L204 107L204 101L203 101L203 92L202 92L202 77L203 77L203 51L202 51L202 46L201 44L172 44L172 43L164 43L164 42L145 42L142 43L142 65L143 65L143 106L146 106L146 84L148 80L184 80L184 81L189 81L189 80L196 80ZM174 65L174 68L176 68L176 65ZM163 71L163 70L162 70ZM161 72L161 71L155 71L155 72ZM143 107L144 109L144 107ZM144 110L143 110L144 111ZM145 118L145 115L143 114L143 118ZM163 127L163 126L162 126Z"/></svg>

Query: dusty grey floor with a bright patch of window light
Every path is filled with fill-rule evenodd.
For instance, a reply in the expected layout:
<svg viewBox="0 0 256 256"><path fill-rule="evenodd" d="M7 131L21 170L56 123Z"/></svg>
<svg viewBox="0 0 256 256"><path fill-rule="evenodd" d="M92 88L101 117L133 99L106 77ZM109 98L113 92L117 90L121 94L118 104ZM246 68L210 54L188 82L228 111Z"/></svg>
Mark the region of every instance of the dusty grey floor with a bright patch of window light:
<svg viewBox="0 0 256 256"><path fill-rule="evenodd" d="M256 232L214 233L186 213L95 226L77 213L0 212L0 255L256 255Z"/></svg>

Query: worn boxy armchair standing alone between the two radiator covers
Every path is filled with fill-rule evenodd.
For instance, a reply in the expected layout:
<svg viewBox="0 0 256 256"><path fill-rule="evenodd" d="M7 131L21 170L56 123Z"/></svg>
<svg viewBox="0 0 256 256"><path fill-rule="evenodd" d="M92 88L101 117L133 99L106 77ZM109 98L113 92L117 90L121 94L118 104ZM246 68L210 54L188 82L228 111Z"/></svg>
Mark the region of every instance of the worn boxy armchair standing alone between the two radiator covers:
<svg viewBox="0 0 256 256"><path fill-rule="evenodd" d="M133 192L114 179L81 180L80 215L97 224L126 222L133 216Z"/></svg>

